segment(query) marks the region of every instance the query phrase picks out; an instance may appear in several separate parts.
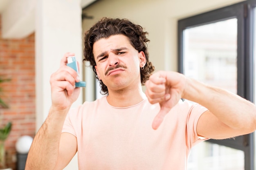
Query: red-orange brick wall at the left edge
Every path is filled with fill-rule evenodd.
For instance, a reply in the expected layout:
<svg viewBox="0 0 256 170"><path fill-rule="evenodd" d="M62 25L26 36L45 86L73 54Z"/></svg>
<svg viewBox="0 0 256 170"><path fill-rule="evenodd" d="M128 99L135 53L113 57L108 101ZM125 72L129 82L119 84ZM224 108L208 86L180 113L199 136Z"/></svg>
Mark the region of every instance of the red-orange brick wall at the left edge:
<svg viewBox="0 0 256 170"><path fill-rule="evenodd" d="M0 97L9 108L0 108L0 128L13 123L5 141L7 166L16 170L15 144L22 135L35 135L35 36L21 40L2 39L0 16L0 75L10 82L0 84Z"/></svg>

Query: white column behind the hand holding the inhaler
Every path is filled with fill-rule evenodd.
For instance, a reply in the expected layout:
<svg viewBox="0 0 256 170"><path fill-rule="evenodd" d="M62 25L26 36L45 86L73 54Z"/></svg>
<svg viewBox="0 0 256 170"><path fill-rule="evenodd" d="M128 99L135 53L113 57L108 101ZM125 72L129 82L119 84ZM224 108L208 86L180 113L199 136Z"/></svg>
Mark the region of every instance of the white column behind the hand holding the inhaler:
<svg viewBox="0 0 256 170"><path fill-rule="evenodd" d="M82 68L81 0L37 0L36 4L36 129L51 106L49 79L66 52L73 52ZM81 69L82 70L82 69ZM81 71L82 73L82 71ZM80 74L82 79L82 75ZM82 93L73 104L82 104ZM77 156L67 166L77 170Z"/></svg>

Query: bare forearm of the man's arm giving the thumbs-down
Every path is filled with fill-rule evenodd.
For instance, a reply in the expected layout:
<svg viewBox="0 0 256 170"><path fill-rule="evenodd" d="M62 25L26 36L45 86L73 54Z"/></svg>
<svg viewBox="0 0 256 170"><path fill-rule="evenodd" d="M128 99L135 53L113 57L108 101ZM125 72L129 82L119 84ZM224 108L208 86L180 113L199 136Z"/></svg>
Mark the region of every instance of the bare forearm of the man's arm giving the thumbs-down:
<svg viewBox="0 0 256 170"><path fill-rule="evenodd" d="M188 79L184 98L208 108L220 121L234 129L252 132L256 128L256 106L220 88Z"/></svg>

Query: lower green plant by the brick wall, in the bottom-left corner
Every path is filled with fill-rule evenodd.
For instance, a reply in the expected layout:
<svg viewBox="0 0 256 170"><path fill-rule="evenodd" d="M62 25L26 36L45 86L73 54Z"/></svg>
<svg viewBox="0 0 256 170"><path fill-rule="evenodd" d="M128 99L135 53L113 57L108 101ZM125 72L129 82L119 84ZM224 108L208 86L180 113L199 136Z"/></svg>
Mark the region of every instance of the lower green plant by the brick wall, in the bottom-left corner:
<svg viewBox="0 0 256 170"><path fill-rule="evenodd" d="M0 168L6 168L4 141L7 139L9 133L11 132L11 126L11 122L8 122L4 128L0 129Z"/></svg>

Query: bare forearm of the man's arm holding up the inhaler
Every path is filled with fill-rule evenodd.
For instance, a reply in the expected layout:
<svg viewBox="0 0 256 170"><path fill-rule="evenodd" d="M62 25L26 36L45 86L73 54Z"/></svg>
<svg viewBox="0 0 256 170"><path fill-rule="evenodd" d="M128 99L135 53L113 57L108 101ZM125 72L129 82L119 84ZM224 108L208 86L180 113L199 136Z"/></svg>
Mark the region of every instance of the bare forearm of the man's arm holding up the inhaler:
<svg viewBox="0 0 256 170"><path fill-rule="evenodd" d="M50 109L45 123L36 134L29 150L25 170L53 170L57 159L61 130L67 110Z"/></svg>

